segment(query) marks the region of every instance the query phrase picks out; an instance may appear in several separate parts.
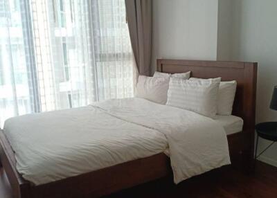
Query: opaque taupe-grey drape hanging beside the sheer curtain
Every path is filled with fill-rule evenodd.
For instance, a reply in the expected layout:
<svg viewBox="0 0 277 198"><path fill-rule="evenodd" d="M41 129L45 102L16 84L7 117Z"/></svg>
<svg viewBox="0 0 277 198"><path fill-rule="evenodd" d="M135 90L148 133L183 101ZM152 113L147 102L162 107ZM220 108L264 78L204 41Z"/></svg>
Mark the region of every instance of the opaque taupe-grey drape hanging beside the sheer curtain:
<svg viewBox="0 0 277 198"><path fill-rule="evenodd" d="M140 75L150 75L152 0L125 0L129 35Z"/></svg>

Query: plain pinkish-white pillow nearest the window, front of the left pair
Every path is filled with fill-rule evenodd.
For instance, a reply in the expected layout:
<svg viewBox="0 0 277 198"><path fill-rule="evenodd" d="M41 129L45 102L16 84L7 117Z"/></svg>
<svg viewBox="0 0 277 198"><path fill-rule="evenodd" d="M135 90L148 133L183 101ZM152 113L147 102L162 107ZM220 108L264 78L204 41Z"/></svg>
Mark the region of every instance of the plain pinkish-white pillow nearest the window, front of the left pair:
<svg viewBox="0 0 277 198"><path fill-rule="evenodd" d="M169 79L169 77L153 78L139 75L134 96L164 105L168 99Z"/></svg>

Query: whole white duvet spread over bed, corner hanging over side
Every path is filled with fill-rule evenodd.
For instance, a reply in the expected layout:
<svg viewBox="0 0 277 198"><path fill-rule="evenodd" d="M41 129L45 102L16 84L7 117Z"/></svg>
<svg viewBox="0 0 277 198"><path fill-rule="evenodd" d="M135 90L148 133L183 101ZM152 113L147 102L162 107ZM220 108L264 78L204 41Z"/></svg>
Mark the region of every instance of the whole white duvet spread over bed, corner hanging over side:
<svg viewBox="0 0 277 198"><path fill-rule="evenodd" d="M10 118L4 132L17 170L35 185L168 147L175 183L230 163L224 129L211 118L139 98Z"/></svg>

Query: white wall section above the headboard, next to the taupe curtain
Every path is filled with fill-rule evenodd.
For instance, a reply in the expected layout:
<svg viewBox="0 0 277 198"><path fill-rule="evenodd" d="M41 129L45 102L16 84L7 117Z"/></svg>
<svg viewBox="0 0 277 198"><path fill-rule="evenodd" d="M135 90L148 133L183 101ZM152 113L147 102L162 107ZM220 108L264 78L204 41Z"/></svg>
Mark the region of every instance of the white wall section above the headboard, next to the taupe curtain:
<svg viewBox="0 0 277 198"><path fill-rule="evenodd" d="M154 0L152 71L157 58L215 60L217 0Z"/></svg>

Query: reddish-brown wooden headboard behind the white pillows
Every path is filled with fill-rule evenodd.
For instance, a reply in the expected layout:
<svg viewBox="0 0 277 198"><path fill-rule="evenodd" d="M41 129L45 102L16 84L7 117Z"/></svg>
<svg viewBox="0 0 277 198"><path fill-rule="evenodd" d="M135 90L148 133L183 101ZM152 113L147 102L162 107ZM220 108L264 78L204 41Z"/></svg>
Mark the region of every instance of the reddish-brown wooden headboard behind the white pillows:
<svg viewBox="0 0 277 198"><path fill-rule="evenodd" d="M256 62L222 62L203 60L157 60L157 71L183 73L191 71L191 77L217 78L238 82L233 104L233 115L244 120L244 132L253 133L256 109Z"/></svg>

